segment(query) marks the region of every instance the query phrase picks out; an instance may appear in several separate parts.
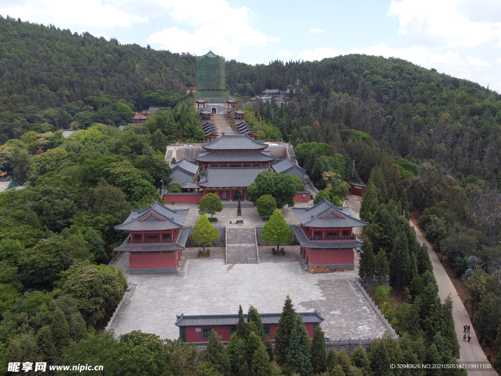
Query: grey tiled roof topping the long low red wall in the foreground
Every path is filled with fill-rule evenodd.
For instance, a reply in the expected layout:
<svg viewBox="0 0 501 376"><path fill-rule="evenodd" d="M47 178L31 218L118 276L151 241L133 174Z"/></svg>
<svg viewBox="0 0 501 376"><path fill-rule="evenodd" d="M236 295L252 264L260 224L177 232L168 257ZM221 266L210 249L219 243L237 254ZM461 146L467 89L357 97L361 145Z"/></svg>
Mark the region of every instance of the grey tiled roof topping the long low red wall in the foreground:
<svg viewBox="0 0 501 376"><path fill-rule="evenodd" d="M282 313L263 313L261 315L261 320L264 325L278 324L280 316ZM324 321L324 318L320 315L320 312L300 312L303 317L303 322L305 324L319 324ZM238 315L193 315L181 316L176 315L177 320L175 325L180 327L186 326L218 326L218 325L236 325L238 322ZM247 315L243 315L245 322L247 322Z"/></svg>

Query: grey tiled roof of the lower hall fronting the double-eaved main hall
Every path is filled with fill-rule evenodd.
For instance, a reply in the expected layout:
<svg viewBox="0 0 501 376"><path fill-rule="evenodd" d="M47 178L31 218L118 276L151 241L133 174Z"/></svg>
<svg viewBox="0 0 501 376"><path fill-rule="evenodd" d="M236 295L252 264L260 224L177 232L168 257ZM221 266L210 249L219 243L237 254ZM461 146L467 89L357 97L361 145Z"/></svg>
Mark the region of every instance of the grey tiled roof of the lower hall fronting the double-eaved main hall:
<svg viewBox="0 0 501 376"><path fill-rule="evenodd" d="M200 186L207 188L246 187L266 167L207 167L206 175L200 175ZM203 179L203 180L202 180Z"/></svg>

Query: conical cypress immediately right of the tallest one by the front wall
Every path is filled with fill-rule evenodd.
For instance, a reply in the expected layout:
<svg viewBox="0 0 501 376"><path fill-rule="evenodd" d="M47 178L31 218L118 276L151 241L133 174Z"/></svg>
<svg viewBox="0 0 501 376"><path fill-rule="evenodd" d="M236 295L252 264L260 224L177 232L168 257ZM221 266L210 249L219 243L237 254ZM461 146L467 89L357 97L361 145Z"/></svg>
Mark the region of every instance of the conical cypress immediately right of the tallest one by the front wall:
<svg viewBox="0 0 501 376"><path fill-rule="evenodd" d="M296 317L296 324L291 333L291 341L286 352L287 362L301 376L310 376L312 367L311 339L300 315Z"/></svg>

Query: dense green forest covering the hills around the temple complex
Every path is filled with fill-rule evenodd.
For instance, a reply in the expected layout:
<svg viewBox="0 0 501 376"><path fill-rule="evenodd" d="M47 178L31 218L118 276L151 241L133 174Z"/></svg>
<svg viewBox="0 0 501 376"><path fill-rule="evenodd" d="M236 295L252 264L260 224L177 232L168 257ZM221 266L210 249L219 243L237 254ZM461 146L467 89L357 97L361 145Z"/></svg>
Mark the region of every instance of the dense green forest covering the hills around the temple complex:
<svg viewBox="0 0 501 376"><path fill-rule="evenodd" d="M192 106L195 57L1 16L0 51L0 170L26 185L0 193L0 371L7 359L70 363L92 354L99 362L113 359L112 374L193 374L198 363L189 346L138 332L115 338L102 329L128 288L123 272L106 266L126 236L113 226L131 208L161 200L158 190L171 173L167 144L203 137ZM401 304L384 289L378 304L386 304L400 339L386 338L365 358L333 354L327 370L316 373L401 374L389 369L388 356L455 361L451 303L438 298L409 213L464 282L481 340L501 350L498 93L401 59L365 55L256 66L230 60L226 85L263 139L294 145L322 197L336 204L347 195L346 182L367 183L361 272L390 276ZM290 99L284 106L253 103L265 88L290 89ZM149 106L163 108L143 124L119 128ZM70 127L77 131L64 138L61 129ZM242 338L234 339L236 347L245 345ZM242 355L247 368L238 356L230 368L271 374L253 370L256 353L270 360L266 343L254 345ZM198 375L240 374L211 365L208 352ZM145 354L153 354L151 367L162 359L161 369L127 368L143 364ZM185 371L176 361L193 367ZM276 371L306 374L297 364Z"/></svg>

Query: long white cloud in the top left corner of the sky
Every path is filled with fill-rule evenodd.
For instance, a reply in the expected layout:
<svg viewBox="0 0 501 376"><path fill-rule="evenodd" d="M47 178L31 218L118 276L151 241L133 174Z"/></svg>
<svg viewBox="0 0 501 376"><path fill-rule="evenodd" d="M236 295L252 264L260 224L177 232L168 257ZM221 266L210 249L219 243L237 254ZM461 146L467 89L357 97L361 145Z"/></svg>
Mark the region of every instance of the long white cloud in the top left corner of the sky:
<svg viewBox="0 0 501 376"><path fill-rule="evenodd" d="M130 27L133 23L147 22L148 17L128 14L101 0L88 0L85 3L66 0L30 0L16 5L0 3L0 14L21 18L23 21L53 24L58 27L85 25L89 28L112 29L115 26Z"/></svg>

